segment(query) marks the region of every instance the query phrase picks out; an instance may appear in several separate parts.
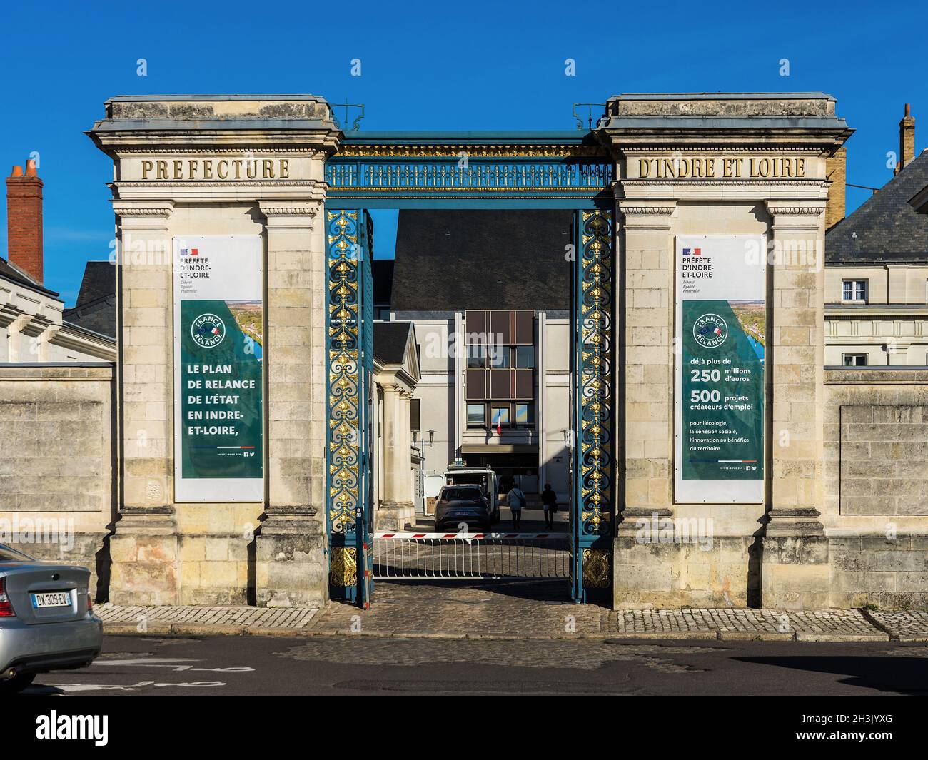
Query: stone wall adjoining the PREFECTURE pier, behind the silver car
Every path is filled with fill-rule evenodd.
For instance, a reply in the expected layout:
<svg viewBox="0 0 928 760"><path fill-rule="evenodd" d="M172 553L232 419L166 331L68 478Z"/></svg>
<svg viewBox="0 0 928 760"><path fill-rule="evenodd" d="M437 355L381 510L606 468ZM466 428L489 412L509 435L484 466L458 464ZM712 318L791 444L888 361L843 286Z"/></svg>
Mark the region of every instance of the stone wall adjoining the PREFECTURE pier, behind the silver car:
<svg viewBox="0 0 928 760"><path fill-rule="evenodd" d="M116 503L114 381L109 363L0 364L0 543L90 568L98 600Z"/></svg>

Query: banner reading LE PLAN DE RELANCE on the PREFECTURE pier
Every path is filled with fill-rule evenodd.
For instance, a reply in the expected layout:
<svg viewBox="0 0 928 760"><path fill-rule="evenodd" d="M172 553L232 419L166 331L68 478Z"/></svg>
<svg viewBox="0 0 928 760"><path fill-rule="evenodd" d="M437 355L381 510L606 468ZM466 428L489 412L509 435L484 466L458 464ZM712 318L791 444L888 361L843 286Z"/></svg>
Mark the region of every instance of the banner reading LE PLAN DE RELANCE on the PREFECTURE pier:
<svg viewBox="0 0 928 760"><path fill-rule="evenodd" d="M174 500L264 499L262 243L174 238Z"/></svg>

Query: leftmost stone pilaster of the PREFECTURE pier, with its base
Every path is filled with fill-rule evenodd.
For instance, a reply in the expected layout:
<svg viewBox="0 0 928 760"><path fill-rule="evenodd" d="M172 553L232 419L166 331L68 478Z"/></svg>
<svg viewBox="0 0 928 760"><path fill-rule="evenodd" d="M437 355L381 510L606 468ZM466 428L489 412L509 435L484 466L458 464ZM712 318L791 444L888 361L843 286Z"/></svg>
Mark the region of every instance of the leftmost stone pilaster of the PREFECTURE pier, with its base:
<svg viewBox="0 0 928 760"><path fill-rule="evenodd" d="M170 200L114 200L119 217L122 509L110 537L110 601L180 603L174 520Z"/></svg>

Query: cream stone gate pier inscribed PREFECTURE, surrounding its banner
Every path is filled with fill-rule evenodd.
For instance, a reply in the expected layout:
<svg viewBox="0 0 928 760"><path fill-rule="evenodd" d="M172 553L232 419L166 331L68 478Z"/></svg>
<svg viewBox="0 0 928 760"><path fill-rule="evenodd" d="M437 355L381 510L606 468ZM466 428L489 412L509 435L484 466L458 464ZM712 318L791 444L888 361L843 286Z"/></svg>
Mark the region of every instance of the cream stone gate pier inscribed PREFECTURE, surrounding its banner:
<svg viewBox="0 0 928 760"><path fill-rule="evenodd" d="M124 259L114 600L316 606L328 587L325 161L342 136L329 105L114 97L88 134L113 161ZM261 238L266 253L264 492L250 500L210 483L176 500L173 247L200 237Z"/></svg>

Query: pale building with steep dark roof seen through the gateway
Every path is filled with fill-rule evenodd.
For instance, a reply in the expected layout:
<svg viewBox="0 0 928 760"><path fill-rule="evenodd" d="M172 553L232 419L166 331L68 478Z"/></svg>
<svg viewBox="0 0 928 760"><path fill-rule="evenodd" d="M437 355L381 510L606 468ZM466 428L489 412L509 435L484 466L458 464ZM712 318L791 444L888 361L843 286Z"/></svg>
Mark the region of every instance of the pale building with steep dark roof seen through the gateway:
<svg viewBox="0 0 928 760"><path fill-rule="evenodd" d="M535 500L570 493L572 215L400 211L396 258L375 271L389 314L416 325L426 475L496 470ZM505 253L503 253L505 251Z"/></svg>

